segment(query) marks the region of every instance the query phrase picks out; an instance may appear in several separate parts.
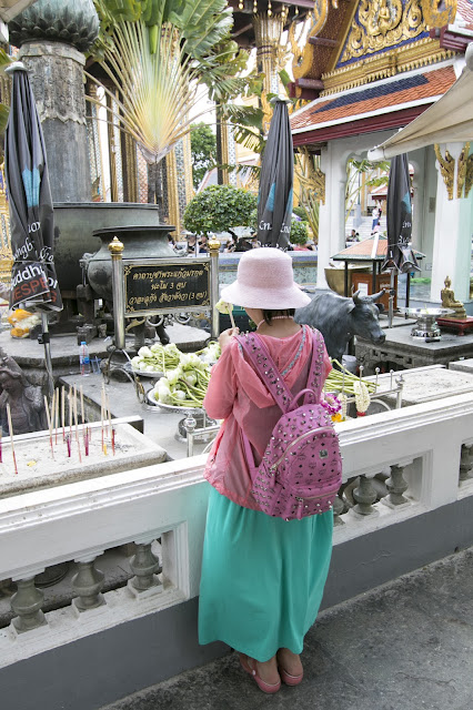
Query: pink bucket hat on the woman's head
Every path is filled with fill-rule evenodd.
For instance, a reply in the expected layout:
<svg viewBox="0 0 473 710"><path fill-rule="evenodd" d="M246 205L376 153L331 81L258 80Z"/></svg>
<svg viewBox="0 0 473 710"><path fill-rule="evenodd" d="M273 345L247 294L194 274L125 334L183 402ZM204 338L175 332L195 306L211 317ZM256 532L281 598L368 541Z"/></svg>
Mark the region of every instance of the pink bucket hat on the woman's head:
<svg viewBox="0 0 473 710"><path fill-rule="evenodd" d="M244 252L236 281L222 288L221 297L243 308L283 311L306 306L311 298L294 283L292 258L279 248Z"/></svg>

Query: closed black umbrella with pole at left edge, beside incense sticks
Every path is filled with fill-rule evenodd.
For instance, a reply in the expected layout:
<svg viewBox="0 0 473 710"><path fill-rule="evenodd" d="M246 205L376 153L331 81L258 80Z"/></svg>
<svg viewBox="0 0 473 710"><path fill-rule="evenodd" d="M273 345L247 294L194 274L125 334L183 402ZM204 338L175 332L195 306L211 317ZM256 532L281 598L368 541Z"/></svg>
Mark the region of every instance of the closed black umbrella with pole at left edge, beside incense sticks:
<svg viewBox="0 0 473 710"><path fill-rule="evenodd" d="M10 306L41 312L46 364L52 386L48 311L61 311L54 268L54 223L44 139L28 73L11 64L11 106L6 130L6 179L9 193L11 250Z"/></svg>

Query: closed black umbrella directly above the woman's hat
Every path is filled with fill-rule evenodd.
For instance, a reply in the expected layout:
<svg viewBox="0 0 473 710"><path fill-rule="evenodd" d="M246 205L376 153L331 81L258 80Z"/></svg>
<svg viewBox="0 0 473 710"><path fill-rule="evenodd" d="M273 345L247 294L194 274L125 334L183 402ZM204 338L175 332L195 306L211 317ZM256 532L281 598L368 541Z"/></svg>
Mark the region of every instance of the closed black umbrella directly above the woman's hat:
<svg viewBox="0 0 473 710"><path fill-rule="evenodd" d="M294 156L286 101L278 99L261 165L258 240L288 248L291 234Z"/></svg>

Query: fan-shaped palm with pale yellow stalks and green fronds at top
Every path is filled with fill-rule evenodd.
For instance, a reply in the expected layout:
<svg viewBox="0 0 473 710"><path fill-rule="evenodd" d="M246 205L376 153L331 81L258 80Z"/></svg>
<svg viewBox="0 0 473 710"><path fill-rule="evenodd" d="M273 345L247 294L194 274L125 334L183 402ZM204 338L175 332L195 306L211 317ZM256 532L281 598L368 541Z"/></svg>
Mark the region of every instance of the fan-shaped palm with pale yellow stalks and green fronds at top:
<svg viewBox="0 0 473 710"><path fill-rule="evenodd" d="M246 90L248 79L238 74L248 55L229 40L225 0L94 2L102 28L97 57L118 89L117 95L103 88L117 111L111 120L133 136L149 164L189 133L197 119L190 110L205 87L218 87L211 98L227 101Z"/></svg>

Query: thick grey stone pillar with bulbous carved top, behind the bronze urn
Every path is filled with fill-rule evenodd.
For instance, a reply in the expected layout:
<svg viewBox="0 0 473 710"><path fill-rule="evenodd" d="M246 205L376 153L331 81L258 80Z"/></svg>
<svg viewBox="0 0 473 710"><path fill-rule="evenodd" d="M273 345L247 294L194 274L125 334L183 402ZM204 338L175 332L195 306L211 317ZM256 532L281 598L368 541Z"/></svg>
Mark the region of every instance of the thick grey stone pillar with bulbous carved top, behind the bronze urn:
<svg viewBox="0 0 473 710"><path fill-rule="evenodd" d="M91 175L82 52L94 42L99 18L92 0L37 0L9 23L21 48L48 152L54 202L88 202Z"/></svg>

